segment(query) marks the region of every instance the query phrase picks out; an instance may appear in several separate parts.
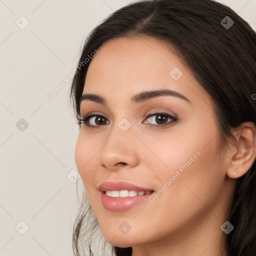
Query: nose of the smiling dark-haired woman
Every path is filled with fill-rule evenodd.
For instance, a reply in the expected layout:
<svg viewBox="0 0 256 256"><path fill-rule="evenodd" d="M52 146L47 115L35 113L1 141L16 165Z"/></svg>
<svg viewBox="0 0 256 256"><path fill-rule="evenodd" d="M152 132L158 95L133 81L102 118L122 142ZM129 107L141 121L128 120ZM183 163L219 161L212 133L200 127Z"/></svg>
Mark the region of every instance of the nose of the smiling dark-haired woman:
<svg viewBox="0 0 256 256"><path fill-rule="evenodd" d="M100 163L109 170L116 170L124 165L134 167L139 162L136 136L131 129L118 129L119 127L116 127L112 130L100 151Z"/></svg>

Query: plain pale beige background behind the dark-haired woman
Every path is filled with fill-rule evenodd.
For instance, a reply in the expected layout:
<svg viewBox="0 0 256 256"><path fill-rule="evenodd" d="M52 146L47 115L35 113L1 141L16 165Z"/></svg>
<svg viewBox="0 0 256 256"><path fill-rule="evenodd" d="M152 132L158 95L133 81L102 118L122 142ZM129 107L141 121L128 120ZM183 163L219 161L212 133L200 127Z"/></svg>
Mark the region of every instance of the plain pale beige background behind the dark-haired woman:
<svg viewBox="0 0 256 256"><path fill-rule="evenodd" d="M128 2L0 0L1 256L72 255L78 127L70 82L46 95L73 70L84 36ZM256 0L221 2L255 30Z"/></svg>

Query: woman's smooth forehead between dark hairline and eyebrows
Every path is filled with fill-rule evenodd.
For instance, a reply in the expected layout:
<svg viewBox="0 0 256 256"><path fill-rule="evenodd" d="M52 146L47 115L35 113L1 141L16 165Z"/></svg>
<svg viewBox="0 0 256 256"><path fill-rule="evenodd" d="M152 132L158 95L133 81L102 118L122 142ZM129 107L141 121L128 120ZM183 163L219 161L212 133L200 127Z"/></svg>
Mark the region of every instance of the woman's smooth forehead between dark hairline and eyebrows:
<svg viewBox="0 0 256 256"><path fill-rule="evenodd" d="M208 97L170 44L151 37L105 42L89 65L84 85L83 94L100 94L110 101L153 89L175 90L190 101Z"/></svg>

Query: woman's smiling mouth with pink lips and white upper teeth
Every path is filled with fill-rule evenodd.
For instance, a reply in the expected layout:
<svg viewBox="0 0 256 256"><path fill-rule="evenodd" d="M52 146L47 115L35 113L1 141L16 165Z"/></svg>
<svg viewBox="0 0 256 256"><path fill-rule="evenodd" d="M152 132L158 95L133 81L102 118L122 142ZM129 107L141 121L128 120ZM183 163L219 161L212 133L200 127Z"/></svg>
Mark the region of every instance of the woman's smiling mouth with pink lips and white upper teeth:
<svg viewBox="0 0 256 256"><path fill-rule="evenodd" d="M154 192L153 189L119 181L107 181L98 187L103 206L110 211L125 211L141 204Z"/></svg>

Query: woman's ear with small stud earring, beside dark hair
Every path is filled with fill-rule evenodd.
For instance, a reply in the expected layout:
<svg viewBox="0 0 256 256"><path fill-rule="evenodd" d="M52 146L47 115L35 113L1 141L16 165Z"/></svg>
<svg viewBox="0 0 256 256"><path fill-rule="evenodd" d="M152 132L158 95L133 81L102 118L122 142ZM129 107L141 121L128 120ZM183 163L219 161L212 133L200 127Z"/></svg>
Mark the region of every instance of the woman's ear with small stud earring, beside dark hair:
<svg viewBox="0 0 256 256"><path fill-rule="evenodd" d="M256 127L253 122L243 122L234 135L236 143L231 146L227 176L238 178L245 174L256 158ZM238 172L237 172L238 171Z"/></svg>

